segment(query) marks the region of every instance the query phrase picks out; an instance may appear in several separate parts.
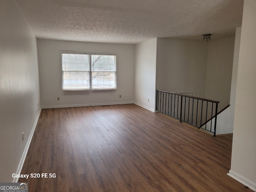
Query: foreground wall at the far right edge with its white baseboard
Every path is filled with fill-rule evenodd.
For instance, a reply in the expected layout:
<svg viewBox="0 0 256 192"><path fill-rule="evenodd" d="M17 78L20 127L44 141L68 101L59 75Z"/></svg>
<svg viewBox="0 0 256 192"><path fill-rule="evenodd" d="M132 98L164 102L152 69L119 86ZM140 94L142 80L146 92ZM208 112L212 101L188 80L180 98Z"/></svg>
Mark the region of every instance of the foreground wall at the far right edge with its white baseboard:
<svg viewBox="0 0 256 192"><path fill-rule="evenodd" d="M256 191L256 1L244 0L229 175Z"/></svg>

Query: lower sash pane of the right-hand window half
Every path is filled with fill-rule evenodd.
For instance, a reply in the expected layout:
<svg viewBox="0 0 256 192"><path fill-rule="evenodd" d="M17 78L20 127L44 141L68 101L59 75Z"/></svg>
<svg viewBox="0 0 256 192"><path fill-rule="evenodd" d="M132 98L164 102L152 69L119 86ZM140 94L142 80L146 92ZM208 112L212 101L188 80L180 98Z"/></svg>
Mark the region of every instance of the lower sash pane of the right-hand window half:
<svg viewBox="0 0 256 192"><path fill-rule="evenodd" d="M116 88L115 72L92 72L92 88Z"/></svg>

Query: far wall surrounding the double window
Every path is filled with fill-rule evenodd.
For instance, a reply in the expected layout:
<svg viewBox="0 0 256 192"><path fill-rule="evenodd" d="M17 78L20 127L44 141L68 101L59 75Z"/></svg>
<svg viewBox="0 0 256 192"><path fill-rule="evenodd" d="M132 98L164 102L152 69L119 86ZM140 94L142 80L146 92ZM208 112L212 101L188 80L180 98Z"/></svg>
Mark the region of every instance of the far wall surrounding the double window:
<svg viewBox="0 0 256 192"><path fill-rule="evenodd" d="M38 65L42 107L82 106L134 102L135 45L71 42L38 39ZM116 54L117 90L64 94L62 92L61 51ZM121 98L119 98L121 95ZM57 100L60 97L60 100Z"/></svg>

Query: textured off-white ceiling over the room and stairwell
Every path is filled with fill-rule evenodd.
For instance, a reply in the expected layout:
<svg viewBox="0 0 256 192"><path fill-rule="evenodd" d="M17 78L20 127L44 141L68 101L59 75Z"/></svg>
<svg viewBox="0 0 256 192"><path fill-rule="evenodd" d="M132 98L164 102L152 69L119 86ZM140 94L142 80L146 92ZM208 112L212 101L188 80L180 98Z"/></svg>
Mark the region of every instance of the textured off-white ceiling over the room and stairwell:
<svg viewBox="0 0 256 192"><path fill-rule="evenodd" d="M37 38L135 44L212 40L242 26L243 0L16 0Z"/></svg>

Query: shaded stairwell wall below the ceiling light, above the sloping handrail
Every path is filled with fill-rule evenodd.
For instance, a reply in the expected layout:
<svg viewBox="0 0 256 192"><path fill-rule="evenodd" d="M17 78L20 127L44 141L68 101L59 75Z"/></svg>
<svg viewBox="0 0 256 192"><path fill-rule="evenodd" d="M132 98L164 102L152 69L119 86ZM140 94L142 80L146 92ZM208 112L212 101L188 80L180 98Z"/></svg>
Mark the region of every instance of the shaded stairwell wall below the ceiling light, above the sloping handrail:
<svg viewBox="0 0 256 192"><path fill-rule="evenodd" d="M234 37L208 42L204 97L219 101L219 110L230 104L234 42Z"/></svg>

